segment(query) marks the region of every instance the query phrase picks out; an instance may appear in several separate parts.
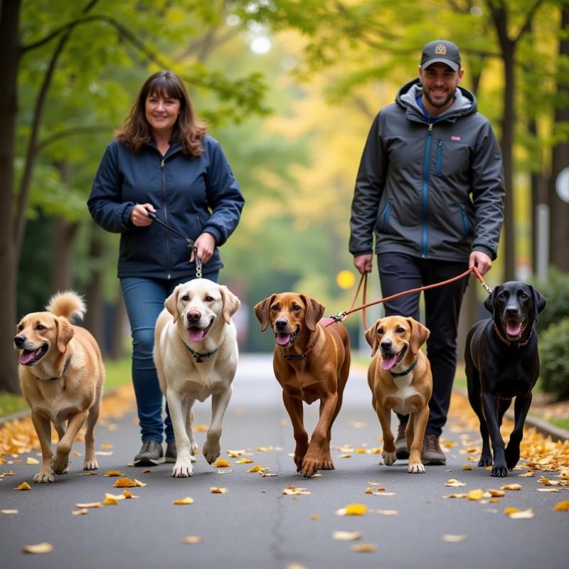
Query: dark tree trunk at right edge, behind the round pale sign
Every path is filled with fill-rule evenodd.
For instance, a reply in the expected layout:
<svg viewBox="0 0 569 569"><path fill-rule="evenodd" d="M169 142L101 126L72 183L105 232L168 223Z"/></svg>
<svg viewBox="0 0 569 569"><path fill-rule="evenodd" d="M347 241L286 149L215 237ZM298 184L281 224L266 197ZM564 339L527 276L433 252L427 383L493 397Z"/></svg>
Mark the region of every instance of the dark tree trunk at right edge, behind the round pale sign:
<svg viewBox="0 0 569 569"><path fill-rule="evenodd" d="M564 8L561 13L561 29L569 28L569 9ZM569 38L559 41L559 55L569 58ZM555 110L555 124L569 123L569 85L567 78L558 78L557 100L565 101L563 107ZM561 270L569 270L569 203L559 198L555 190L555 181L560 171L569 168L569 141L560 142L553 147L553 160L551 164L551 182L549 184L549 199L551 206L551 262Z"/></svg>

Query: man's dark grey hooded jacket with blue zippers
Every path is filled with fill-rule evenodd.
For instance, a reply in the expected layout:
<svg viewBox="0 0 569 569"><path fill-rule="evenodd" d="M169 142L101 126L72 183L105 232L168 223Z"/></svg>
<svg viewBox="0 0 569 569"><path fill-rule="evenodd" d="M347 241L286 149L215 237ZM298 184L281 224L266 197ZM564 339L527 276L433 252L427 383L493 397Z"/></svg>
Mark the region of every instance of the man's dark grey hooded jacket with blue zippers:
<svg viewBox="0 0 569 569"><path fill-rule="evenodd" d="M504 219L501 153L471 92L432 123L418 79L378 113L363 150L350 220L352 255L403 252L464 261L472 250L496 258Z"/></svg>

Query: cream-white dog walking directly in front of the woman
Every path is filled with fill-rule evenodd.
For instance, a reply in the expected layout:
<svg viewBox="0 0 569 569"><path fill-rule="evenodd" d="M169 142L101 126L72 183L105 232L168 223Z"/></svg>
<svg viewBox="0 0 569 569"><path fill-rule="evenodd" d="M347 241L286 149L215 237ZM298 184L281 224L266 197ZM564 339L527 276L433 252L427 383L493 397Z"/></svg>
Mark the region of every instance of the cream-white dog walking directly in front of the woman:
<svg viewBox="0 0 569 569"><path fill-rule="evenodd" d="M211 425L203 456L211 464L220 454L223 418L237 370L238 347L231 317L240 306L228 287L208 279L178 285L164 302L154 330L154 363L166 395L176 438L172 476L193 474L198 449L191 423L193 403L211 395Z"/></svg>

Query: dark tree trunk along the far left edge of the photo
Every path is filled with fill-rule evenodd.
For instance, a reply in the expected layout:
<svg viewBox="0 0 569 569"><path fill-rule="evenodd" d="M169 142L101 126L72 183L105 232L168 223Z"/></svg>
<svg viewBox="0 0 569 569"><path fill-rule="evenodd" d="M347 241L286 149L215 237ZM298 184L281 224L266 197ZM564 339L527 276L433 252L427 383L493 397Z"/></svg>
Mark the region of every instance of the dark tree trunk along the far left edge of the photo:
<svg viewBox="0 0 569 569"><path fill-rule="evenodd" d="M14 152L18 108L18 26L20 0L3 1L0 7L0 391L18 393L18 365L14 350L16 324L16 255L13 246Z"/></svg>

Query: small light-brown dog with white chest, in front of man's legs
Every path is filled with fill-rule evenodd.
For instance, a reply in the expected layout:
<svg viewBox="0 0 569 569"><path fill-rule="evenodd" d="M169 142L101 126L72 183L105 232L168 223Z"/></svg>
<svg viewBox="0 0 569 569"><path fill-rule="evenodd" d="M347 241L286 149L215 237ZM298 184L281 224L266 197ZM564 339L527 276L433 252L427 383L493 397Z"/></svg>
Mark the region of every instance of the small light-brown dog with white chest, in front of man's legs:
<svg viewBox="0 0 569 569"><path fill-rule="evenodd" d="M405 436L409 450L408 472L425 472L421 462L422 440L429 418L432 393L431 366L420 347L430 332L413 318L390 316L366 330L373 359L368 368L371 403L383 430L383 463L395 462L391 410L409 413ZM376 353L379 350L379 353Z"/></svg>

